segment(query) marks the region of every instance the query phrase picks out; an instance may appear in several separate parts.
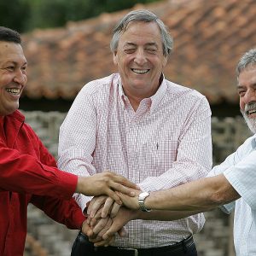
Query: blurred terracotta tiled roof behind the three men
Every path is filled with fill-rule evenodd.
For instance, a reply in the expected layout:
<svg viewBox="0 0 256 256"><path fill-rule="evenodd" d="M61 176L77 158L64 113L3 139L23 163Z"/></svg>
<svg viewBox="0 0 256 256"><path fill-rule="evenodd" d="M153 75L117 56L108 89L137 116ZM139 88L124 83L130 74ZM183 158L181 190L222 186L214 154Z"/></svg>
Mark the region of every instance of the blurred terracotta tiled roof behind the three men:
<svg viewBox="0 0 256 256"><path fill-rule="evenodd" d="M167 79L201 91L212 104L237 101L236 62L256 46L255 0L169 0L133 9L153 11L170 28ZM85 83L117 72L108 45L128 11L24 34L26 96L73 99Z"/></svg>

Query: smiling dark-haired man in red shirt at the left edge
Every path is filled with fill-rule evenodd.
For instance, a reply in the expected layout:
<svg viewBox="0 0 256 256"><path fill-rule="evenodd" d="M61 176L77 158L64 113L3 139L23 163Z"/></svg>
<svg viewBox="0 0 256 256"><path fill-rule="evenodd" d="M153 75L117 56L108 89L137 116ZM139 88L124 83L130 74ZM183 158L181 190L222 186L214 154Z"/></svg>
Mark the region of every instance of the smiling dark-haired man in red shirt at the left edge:
<svg viewBox="0 0 256 256"><path fill-rule="evenodd" d="M69 229L81 229L84 215L74 192L109 195L113 190L132 195L125 177L103 172L78 177L56 168L54 157L17 110L26 86L26 58L20 34L0 26L0 255L23 255L28 203Z"/></svg>

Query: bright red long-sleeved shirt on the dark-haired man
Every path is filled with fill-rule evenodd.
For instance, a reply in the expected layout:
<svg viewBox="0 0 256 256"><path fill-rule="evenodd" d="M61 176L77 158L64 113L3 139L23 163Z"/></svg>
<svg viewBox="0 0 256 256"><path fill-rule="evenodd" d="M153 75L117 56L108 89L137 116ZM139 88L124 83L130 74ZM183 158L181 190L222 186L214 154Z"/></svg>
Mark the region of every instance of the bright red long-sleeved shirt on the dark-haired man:
<svg viewBox="0 0 256 256"><path fill-rule="evenodd" d="M0 255L22 256L28 203L79 229L85 217L72 196L78 177L56 168L54 157L24 116L0 119Z"/></svg>

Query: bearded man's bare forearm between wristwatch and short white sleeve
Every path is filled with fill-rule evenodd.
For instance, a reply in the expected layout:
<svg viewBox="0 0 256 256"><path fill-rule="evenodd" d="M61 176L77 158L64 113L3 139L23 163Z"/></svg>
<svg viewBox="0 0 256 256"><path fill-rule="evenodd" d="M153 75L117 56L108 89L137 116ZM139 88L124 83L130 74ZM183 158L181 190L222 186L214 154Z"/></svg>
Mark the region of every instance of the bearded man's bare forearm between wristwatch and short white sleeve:
<svg viewBox="0 0 256 256"><path fill-rule="evenodd" d="M146 198L145 206L155 210L205 212L239 197L240 195L221 174L173 189L152 192Z"/></svg>

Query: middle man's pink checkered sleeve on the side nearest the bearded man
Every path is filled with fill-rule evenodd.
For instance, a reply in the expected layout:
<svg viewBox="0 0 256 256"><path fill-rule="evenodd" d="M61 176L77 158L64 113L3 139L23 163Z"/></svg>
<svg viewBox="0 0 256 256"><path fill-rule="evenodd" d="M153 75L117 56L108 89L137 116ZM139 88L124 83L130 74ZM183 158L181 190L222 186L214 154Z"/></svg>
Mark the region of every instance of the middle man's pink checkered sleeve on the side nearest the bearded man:
<svg viewBox="0 0 256 256"><path fill-rule="evenodd" d="M159 177L147 177L141 189L168 189L205 177L212 168L211 110L205 97L184 125L172 168Z"/></svg>

